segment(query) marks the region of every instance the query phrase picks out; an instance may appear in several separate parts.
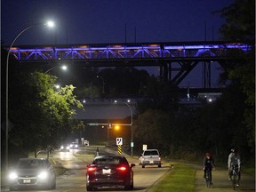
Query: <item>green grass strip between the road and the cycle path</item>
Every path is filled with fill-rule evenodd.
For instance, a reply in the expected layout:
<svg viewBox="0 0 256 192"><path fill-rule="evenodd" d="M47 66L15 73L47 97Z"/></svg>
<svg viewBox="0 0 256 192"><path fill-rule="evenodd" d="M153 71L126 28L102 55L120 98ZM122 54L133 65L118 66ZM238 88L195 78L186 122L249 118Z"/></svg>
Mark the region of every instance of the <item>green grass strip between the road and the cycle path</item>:
<svg viewBox="0 0 256 192"><path fill-rule="evenodd" d="M184 164L174 164L172 170L148 192L194 192L195 176L196 169Z"/></svg>

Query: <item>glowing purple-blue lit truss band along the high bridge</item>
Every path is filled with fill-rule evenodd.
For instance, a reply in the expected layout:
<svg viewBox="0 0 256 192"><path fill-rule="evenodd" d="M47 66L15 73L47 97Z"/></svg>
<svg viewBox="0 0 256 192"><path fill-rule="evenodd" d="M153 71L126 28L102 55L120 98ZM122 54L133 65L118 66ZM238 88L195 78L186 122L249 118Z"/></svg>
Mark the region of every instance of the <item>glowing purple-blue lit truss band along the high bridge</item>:
<svg viewBox="0 0 256 192"><path fill-rule="evenodd" d="M62 54L62 59L108 59L109 55L111 58L156 58L156 57L198 57L201 53L210 52L211 56L218 56L212 53L212 49L220 50L220 52L225 52L227 49L241 49L244 52L250 50L251 47L247 44L184 44L184 45L168 45L168 44L141 44L141 45L106 45L106 46L87 46L87 45L74 45L73 47L54 47L45 46L40 48L19 48L13 47L11 52L16 57L16 59L21 60L22 53L27 55L27 59L31 59L32 55L40 55L40 59L57 59L56 55L58 52ZM98 52L96 52L98 51ZM192 51L192 52L191 52ZM83 53L82 53L83 52ZM121 53L122 52L122 53ZM124 53L123 53L124 52ZM131 52L127 54L127 52ZM182 52L182 53L181 53ZM188 54L187 54L188 52ZM196 52L193 55L193 52ZM180 54L181 53L181 54ZM19 54L19 56L17 56ZM49 55L50 57L46 56ZM75 56L75 57L74 57ZM23 57L24 58L24 57ZM36 60L37 57L34 59ZM60 57L58 59L61 59Z"/></svg>

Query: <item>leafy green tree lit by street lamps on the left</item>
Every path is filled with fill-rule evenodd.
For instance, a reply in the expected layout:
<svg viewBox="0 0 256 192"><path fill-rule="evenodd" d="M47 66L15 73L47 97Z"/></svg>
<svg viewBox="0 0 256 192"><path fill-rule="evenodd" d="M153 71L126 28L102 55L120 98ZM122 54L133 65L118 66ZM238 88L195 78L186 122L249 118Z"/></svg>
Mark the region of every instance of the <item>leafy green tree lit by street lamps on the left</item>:
<svg viewBox="0 0 256 192"><path fill-rule="evenodd" d="M54 148L70 132L84 126L73 119L74 108L83 108L73 95L73 85L55 91L57 78L39 72L22 73L19 79L20 84L12 87L15 94L11 97L10 117L14 127L10 132L10 142L13 150L19 147L27 154L49 146Z"/></svg>

